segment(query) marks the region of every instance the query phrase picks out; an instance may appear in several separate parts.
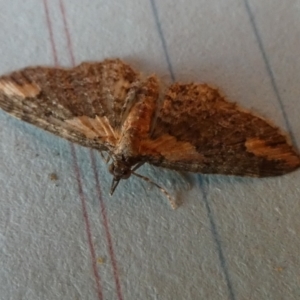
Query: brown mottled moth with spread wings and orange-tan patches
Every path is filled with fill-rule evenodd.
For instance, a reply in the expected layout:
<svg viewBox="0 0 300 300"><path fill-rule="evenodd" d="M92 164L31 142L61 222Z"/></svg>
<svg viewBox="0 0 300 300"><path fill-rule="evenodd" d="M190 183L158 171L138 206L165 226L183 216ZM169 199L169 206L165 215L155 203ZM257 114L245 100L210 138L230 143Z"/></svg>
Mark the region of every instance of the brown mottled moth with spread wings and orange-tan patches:
<svg viewBox="0 0 300 300"><path fill-rule="evenodd" d="M0 107L71 142L106 152L111 194L144 163L204 174L278 176L300 166L279 128L207 84L162 94L119 59L29 67L0 77ZM144 178L145 179L145 178ZM172 203L174 206L174 203Z"/></svg>

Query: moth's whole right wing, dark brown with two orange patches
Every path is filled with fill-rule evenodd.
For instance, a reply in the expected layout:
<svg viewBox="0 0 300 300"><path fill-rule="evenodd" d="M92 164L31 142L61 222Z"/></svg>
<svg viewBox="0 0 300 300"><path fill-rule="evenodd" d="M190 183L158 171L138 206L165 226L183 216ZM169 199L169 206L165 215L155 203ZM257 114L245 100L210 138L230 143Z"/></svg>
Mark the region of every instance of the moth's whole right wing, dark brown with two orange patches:
<svg viewBox="0 0 300 300"><path fill-rule="evenodd" d="M140 152L153 165L208 174L276 176L300 165L278 128L200 84L169 88Z"/></svg>

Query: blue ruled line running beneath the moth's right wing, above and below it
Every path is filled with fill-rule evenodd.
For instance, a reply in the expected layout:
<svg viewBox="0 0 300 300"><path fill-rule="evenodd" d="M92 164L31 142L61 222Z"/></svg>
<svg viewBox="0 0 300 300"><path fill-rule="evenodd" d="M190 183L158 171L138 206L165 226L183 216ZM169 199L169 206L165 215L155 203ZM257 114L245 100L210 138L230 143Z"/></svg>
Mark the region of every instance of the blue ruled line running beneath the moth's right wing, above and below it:
<svg viewBox="0 0 300 300"><path fill-rule="evenodd" d="M163 47L163 51L164 51L164 55L168 64L168 71L170 73L170 76L172 78L173 81L175 81L175 74L173 72L173 67L171 64L171 60L170 60L170 55L169 55L169 51L168 51L168 47L167 47L167 43L164 37L164 33L161 27L161 23L158 17L158 11L157 11L157 7L156 7L156 3L155 0L150 0L151 2L151 7L152 7L152 12L154 15L154 19L155 19L155 23L156 23L156 28L162 43L162 47ZM216 226L216 222L215 222L215 218L213 216L212 210L210 208L209 205L209 201L207 199L207 188L209 186L209 182L207 182L205 184L205 179L202 178L201 175L198 175L198 181L199 181L199 188L200 191L202 192L202 200L204 202L205 208L206 208L206 212L207 212L207 216L210 222L210 227L211 227L211 231L212 231L212 235L213 235L213 239L216 245L216 250L218 253L218 258L219 258L219 262L220 262L220 266L222 269L222 272L224 274L225 277L225 282L226 282L226 286L228 289L228 293L229 293L229 299L230 300L235 300L235 294L234 294L234 290L232 287L232 283L231 283L231 279L229 276L229 271L228 271L228 267L227 267L227 263L226 263L226 259L225 259L225 255L222 249L222 244L221 244L221 239L217 230L217 226Z"/></svg>

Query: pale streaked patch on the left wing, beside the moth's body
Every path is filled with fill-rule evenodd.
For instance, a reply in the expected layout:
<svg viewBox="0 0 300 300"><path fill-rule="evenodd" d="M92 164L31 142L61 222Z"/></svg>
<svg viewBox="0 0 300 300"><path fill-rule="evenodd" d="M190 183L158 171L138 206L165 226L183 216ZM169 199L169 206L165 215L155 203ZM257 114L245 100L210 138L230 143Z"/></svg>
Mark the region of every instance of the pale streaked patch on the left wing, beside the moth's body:
<svg viewBox="0 0 300 300"><path fill-rule="evenodd" d="M84 134L88 139L106 140L113 145L119 139L119 132L112 129L106 117L89 118L81 116L66 120L66 123Z"/></svg>

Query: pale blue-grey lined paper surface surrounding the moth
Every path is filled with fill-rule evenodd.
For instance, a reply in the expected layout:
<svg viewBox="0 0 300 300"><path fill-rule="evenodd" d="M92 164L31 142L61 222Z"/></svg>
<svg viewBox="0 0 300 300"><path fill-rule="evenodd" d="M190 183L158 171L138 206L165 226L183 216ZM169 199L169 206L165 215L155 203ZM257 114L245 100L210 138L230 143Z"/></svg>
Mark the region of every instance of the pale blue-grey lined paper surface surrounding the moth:
<svg viewBox="0 0 300 300"><path fill-rule="evenodd" d="M0 0L0 72L119 57L165 83L218 86L299 146L299 14L279 0ZM172 211L133 177L110 197L97 153L75 146L74 159L67 141L3 112L0 141L1 300L300 298L299 171L143 167L182 198Z"/></svg>

